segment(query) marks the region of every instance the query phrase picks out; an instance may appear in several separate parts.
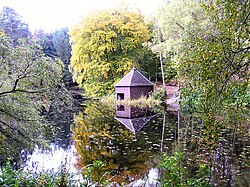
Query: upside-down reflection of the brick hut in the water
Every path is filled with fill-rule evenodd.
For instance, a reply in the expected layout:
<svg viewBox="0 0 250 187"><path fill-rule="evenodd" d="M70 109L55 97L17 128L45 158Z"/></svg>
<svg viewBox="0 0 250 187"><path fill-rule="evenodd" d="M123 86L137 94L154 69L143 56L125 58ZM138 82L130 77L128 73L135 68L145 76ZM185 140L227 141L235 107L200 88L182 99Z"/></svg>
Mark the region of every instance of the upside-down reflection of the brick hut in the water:
<svg viewBox="0 0 250 187"><path fill-rule="evenodd" d="M118 105L116 108L115 119L122 123L133 133L136 133L142 127L144 127L154 116L155 115L150 115L150 111L148 109Z"/></svg>

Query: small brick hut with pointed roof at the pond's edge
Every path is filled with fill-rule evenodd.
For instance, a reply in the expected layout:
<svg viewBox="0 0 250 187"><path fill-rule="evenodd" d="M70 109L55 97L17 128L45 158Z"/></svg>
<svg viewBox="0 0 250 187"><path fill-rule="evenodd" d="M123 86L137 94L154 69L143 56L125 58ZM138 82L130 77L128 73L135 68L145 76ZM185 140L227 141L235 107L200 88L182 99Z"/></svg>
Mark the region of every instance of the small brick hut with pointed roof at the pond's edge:
<svg viewBox="0 0 250 187"><path fill-rule="evenodd" d="M135 67L115 85L116 99L138 99L153 91L153 83Z"/></svg>

